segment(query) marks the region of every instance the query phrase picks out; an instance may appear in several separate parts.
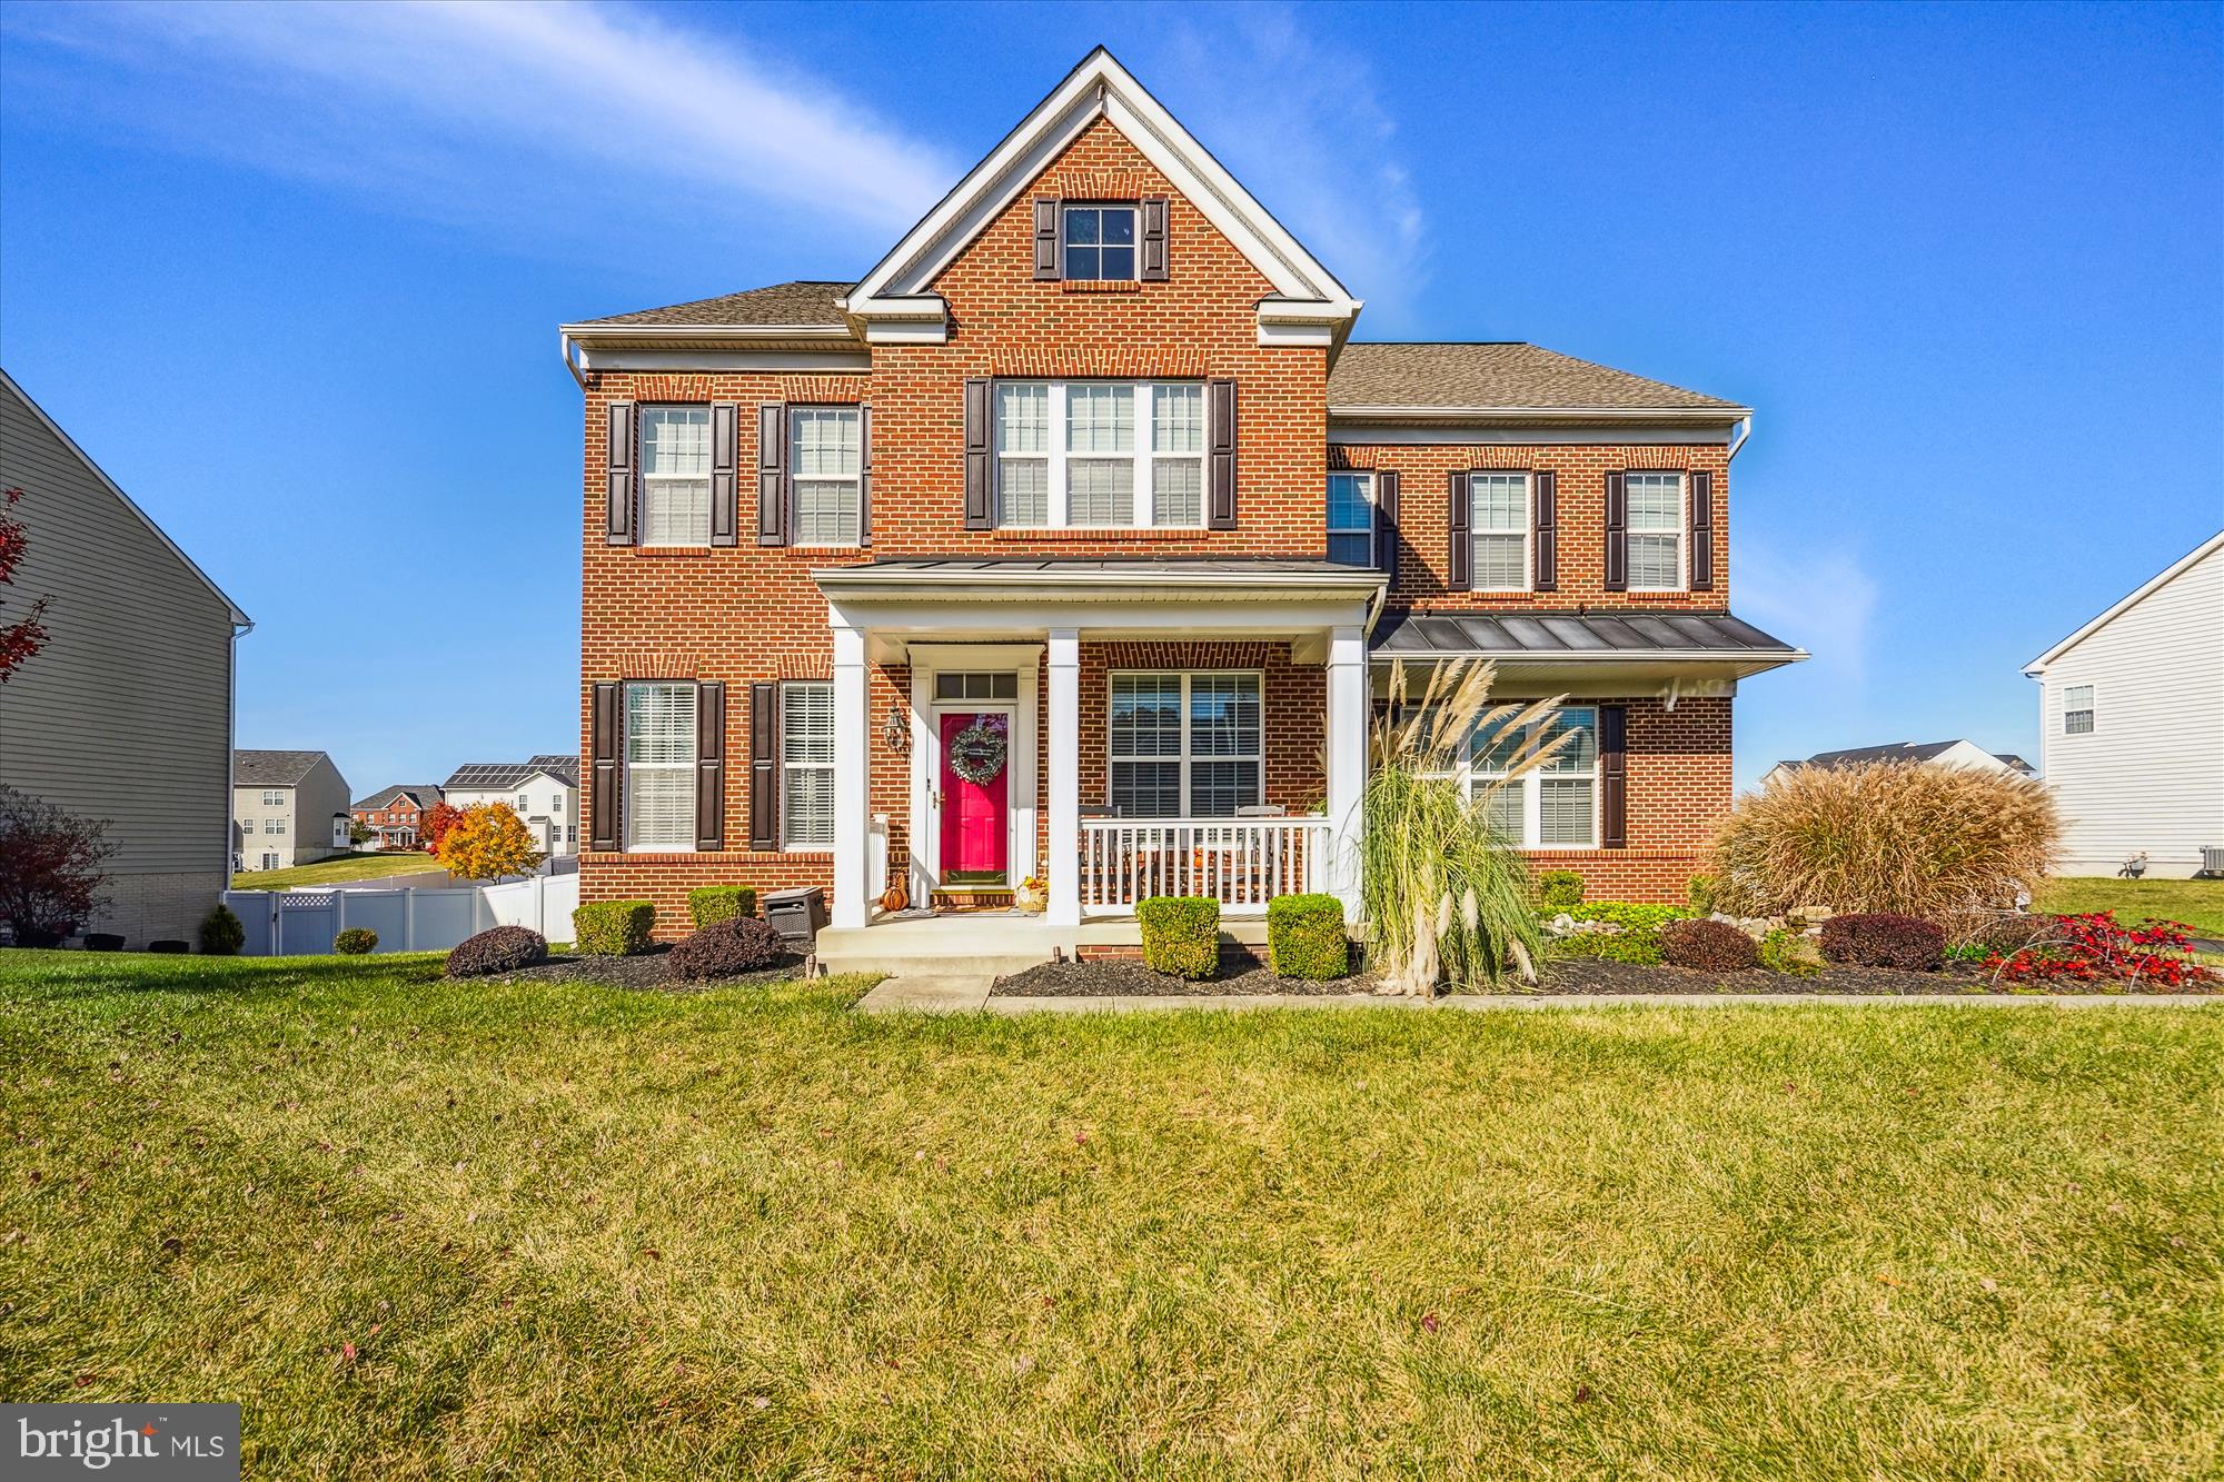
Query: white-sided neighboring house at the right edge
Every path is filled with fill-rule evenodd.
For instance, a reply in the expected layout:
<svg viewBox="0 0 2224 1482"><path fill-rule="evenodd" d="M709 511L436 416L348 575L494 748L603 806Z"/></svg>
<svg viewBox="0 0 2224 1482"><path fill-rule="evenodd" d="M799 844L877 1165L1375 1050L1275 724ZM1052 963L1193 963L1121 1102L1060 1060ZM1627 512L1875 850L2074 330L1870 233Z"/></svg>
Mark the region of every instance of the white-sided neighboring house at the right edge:
<svg viewBox="0 0 2224 1482"><path fill-rule="evenodd" d="M2224 850L2224 532L2024 665L2064 875L2146 854L2188 877Z"/></svg>

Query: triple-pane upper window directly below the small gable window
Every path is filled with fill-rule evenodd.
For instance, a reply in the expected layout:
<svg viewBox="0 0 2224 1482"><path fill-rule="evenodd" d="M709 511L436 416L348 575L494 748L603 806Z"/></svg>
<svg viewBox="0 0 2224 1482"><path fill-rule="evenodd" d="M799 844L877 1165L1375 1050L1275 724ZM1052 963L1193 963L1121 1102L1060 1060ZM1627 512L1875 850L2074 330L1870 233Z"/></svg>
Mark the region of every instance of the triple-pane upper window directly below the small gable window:
<svg viewBox="0 0 2224 1482"><path fill-rule="evenodd" d="M1203 525L1203 383L1003 381L994 447L999 525Z"/></svg>

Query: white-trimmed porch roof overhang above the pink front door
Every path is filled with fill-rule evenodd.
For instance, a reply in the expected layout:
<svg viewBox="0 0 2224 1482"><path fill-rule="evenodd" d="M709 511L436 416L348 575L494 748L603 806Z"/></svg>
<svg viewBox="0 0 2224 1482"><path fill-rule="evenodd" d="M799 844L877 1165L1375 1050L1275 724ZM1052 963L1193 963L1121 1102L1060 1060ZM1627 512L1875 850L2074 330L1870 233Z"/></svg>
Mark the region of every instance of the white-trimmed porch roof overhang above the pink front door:
<svg viewBox="0 0 2224 1482"><path fill-rule="evenodd" d="M1337 628L1366 628L1383 574L1328 561L927 556L812 572L834 621L878 663L921 643L1012 643L1072 630L1094 641L1288 641L1319 663Z"/></svg>

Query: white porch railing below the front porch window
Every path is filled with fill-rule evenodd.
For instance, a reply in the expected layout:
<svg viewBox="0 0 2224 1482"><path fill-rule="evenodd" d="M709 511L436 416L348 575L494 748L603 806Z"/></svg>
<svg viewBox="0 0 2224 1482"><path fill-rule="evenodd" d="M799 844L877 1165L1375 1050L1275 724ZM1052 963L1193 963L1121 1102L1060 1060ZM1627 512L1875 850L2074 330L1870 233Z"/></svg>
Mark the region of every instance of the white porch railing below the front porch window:
<svg viewBox="0 0 2224 1482"><path fill-rule="evenodd" d="M1265 910L1328 888L1328 819L1083 819L1081 910L1134 910L1152 895L1210 895Z"/></svg>

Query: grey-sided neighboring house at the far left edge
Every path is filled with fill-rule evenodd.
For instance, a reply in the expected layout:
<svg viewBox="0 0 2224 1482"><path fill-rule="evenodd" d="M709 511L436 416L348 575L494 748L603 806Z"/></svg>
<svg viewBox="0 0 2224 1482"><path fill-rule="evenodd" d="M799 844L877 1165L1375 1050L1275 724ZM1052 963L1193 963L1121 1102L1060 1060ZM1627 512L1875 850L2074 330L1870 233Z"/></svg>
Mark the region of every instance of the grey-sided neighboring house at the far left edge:
<svg viewBox="0 0 2224 1482"><path fill-rule="evenodd" d="M0 372L0 487L47 648L0 685L0 783L107 819L116 854L89 930L191 941L231 879L225 783L234 643L247 614Z"/></svg>

